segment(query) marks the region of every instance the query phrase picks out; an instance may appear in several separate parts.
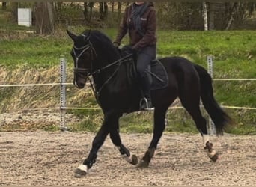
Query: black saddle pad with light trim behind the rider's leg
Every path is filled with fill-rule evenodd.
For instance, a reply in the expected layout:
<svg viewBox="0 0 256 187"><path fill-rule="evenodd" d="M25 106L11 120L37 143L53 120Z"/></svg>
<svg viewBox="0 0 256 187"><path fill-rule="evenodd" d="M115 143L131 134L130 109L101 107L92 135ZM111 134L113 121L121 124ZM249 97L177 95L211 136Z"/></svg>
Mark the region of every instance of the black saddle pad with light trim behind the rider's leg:
<svg viewBox="0 0 256 187"><path fill-rule="evenodd" d="M151 75L152 83L150 90L158 90L167 87L168 76L165 67L159 60L153 60L150 62L150 70L147 73Z"/></svg>

